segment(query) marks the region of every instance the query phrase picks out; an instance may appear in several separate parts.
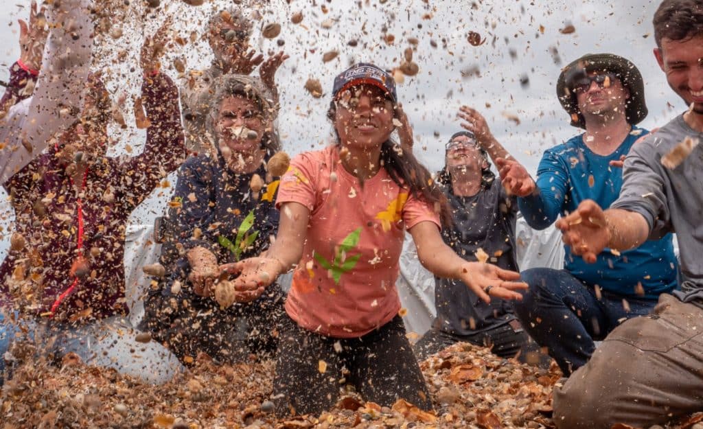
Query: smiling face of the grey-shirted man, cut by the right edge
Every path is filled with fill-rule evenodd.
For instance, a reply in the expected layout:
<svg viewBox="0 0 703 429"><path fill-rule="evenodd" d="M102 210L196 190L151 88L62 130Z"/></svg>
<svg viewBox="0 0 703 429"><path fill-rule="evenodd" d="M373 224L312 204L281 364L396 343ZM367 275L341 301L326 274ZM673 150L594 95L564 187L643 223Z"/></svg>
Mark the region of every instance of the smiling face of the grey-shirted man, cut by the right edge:
<svg viewBox="0 0 703 429"><path fill-rule="evenodd" d="M654 56L671 89L686 105L693 103L693 113L703 115L703 35L683 40L664 38Z"/></svg>

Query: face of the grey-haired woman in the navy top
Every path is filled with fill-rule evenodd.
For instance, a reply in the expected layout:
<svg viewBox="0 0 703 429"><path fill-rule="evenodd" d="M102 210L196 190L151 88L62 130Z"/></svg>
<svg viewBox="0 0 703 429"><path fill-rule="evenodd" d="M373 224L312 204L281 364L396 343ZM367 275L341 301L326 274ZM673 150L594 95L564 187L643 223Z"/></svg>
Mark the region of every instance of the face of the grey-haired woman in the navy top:
<svg viewBox="0 0 703 429"><path fill-rule="evenodd" d="M239 158L239 155L245 160L263 157L262 136L266 132L266 120L255 101L245 96L225 97L215 123L224 158Z"/></svg>

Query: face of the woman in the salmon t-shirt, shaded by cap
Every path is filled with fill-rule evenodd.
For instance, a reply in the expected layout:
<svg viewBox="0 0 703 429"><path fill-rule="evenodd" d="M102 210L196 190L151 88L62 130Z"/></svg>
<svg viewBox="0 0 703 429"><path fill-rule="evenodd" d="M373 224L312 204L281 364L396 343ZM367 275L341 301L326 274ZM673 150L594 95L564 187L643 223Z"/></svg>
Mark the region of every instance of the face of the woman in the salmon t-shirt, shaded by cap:
<svg viewBox="0 0 703 429"><path fill-rule="evenodd" d="M393 102L385 91L361 84L340 94L335 129L349 147L380 148L394 130L393 116Z"/></svg>

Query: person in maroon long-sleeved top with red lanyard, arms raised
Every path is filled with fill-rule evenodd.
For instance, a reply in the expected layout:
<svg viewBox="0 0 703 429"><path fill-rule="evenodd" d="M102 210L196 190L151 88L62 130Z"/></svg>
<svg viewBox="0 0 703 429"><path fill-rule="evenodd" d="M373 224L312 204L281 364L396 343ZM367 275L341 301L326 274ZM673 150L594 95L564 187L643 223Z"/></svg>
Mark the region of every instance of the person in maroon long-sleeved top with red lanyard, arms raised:
<svg viewBox="0 0 703 429"><path fill-rule="evenodd" d="M178 91L157 66L164 39L162 28L142 49L141 154L105 156L111 104L91 75L80 120L4 184L16 219L0 266L0 356L12 360L12 342L41 331L34 342L57 358L72 352L157 383L180 368L156 342L136 342L124 303L129 215L185 156Z"/></svg>

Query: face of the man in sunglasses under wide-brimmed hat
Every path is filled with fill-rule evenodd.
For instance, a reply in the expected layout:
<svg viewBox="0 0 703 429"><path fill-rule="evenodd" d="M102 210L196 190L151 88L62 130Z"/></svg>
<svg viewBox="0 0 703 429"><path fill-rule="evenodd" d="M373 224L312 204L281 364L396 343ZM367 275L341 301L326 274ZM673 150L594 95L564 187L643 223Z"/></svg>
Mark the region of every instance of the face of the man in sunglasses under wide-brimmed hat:
<svg viewBox="0 0 703 429"><path fill-rule="evenodd" d="M630 97L627 89L617 77L608 76L605 79L600 79L599 75L603 75L603 73L588 73L588 77L592 79L590 85L574 89L581 114L584 116L624 116L626 100ZM598 81L602 82L598 83Z"/></svg>

